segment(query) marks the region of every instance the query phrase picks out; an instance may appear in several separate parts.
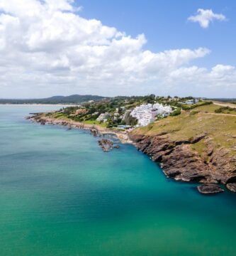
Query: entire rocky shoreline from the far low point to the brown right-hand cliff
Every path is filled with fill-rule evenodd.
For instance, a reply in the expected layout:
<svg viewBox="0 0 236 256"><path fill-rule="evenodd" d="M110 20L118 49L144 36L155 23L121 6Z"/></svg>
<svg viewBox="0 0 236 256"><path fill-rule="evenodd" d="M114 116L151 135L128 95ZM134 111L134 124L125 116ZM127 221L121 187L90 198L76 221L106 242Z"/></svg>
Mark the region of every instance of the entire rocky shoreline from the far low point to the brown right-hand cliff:
<svg viewBox="0 0 236 256"><path fill-rule="evenodd" d="M159 163L168 178L173 178L176 181L202 183L203 185L198 186L198 191L203 194L221 193L224 191L220 187L221 185L236 193L236 156L228 156L227 149L223 147L215 149L207 134L199 134L190 140L174 142L165 133L146 136L72 120L51 119L43 117L42 114L33 114L27 119L42 125L52 124L67 126L68 129L89 129L91 134L99 137L105 134L115 134L121 143L134 144L138 150L150 156L152 161ZM204 140L207 145L203 156L191 149L192 144L201 140ZM118 148L107 139L101 139L98 143L103 151Z"/></svg>

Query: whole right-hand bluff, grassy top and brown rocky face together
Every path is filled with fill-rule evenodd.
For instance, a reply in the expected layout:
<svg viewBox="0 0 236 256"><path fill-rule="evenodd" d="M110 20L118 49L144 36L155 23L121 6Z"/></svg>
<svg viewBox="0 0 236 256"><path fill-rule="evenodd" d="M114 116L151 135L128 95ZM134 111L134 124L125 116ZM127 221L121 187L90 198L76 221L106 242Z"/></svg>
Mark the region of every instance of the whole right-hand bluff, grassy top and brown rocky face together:
<svg viewBox="0 0 236 256"><path fill-rule="evenodd" d="M200 192L222 192L209 186L217 183L236 192L236 116L215 114L216 108L203 106L167 117L135 129L130 139L169 178L206 184Z"/></svg>

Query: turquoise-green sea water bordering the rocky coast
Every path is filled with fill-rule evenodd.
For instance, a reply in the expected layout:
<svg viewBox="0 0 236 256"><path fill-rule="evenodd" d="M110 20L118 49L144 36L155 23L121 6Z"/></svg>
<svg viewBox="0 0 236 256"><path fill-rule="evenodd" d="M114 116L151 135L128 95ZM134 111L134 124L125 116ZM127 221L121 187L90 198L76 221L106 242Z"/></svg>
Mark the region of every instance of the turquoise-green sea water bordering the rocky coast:
<svg viewBox="0 0 236 256"><path fill-rule="evenodd" d="M236 195L168 180L131 145L0 106L0 255L236 255Z"/></svg>

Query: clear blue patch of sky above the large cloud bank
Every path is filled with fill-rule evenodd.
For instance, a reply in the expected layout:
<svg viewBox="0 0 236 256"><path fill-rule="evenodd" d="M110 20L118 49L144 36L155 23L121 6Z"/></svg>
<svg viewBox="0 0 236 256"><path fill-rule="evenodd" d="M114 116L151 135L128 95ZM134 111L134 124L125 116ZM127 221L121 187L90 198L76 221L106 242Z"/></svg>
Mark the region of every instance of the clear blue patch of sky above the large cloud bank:
<svg viewBox="0 0 236 256"><path fill-rule="evenodd" d="M222 63L236 65L236 1L234 0L79 0L81 16L97 18L128 35L145 33L146 49L159 52L176 48L209 48L212 53L196 63L208 68ZM208 29L187 21L197 9L224 14L225 22L215 21Z"/></svg>

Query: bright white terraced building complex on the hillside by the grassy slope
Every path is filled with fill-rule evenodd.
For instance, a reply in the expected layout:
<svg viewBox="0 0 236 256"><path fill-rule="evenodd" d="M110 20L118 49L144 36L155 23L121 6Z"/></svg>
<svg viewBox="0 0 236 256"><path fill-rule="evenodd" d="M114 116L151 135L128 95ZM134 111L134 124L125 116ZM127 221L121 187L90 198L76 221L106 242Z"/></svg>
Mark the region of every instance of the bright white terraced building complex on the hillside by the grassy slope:
<svg viewBox="0 0 236 256"><path fill-rule="evenodd" d="M167 117L172 112L172 107L164 106L159 103L152 104L142 104L139 107L135 107L130 115L137 119L138 126L146 126L150 122L154 122L157 115L162 117Z"/></svg>

